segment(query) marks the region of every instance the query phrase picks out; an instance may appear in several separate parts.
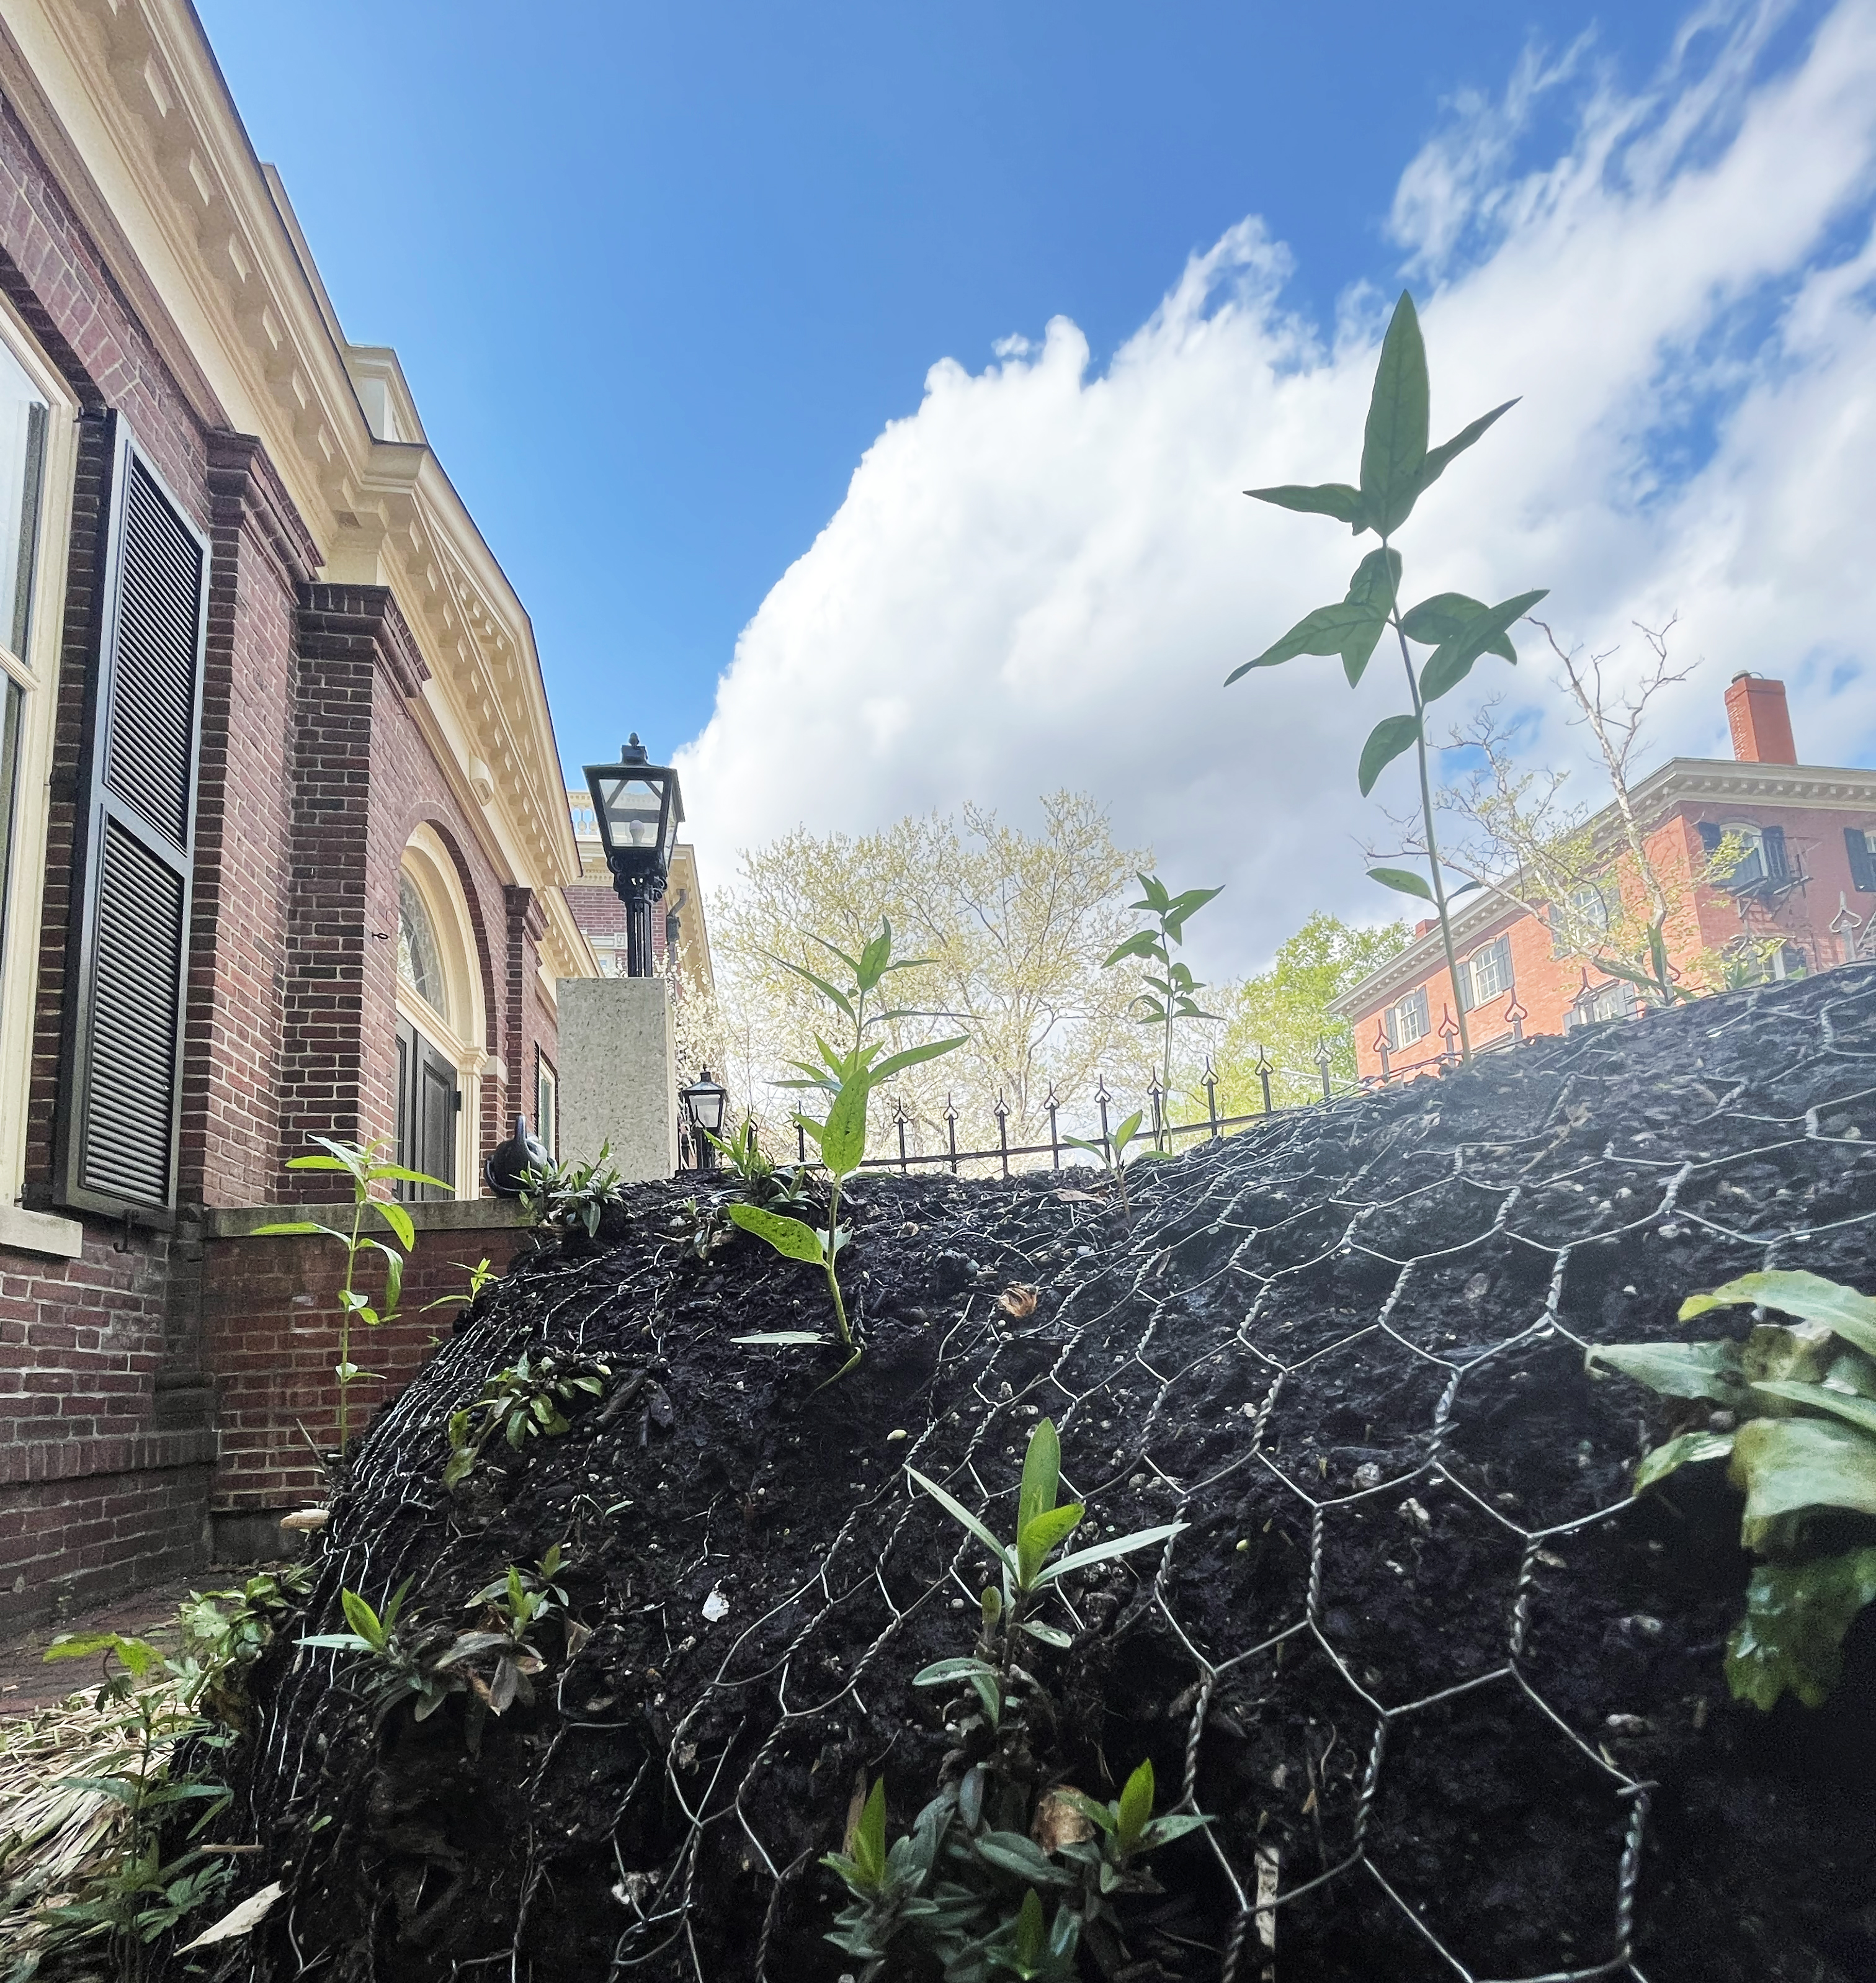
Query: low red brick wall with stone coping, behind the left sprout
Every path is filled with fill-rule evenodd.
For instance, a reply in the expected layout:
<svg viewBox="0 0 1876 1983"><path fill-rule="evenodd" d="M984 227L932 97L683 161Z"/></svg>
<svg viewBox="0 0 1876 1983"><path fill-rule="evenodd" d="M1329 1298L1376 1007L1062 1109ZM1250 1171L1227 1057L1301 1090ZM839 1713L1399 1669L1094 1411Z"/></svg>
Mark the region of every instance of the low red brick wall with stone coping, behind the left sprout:
<svg viewBox="0 0 1876 1983"><path fill-rule="evenodd" d="M496 1269L506 1269L526 1245L529 1237L518 1227L418 1231L405 1267L399 1319L353 1335L353 1362L387 1380L351 1386L347 1414L353 1434L365 1430L434 1342L448 1335L454 1307L426 1311L426 1303L464 1295L464 1267L486 1257ZM299 1428L321 1452L337 1440L339 1386L333 1366L339 1360L337 1293L343 1275L345 1251L331 1239L204 1243L202 1327L216 1372L220 1426L218 1513L290 1509L323 1499L323 1479ZM363 1285L381 1293L383 1273L373 1269Z"/></svg>

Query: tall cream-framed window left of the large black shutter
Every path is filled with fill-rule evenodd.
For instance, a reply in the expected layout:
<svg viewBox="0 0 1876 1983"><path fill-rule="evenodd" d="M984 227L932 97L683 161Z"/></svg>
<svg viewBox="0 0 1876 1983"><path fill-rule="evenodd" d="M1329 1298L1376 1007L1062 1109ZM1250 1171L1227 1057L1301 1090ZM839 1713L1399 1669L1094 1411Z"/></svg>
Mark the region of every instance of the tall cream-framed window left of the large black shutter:
<svg viewBox="0 0 1876 1983"><path fill-rule="evenodd" d="M75 412L0 301L0 1206L26 1154Z"/></svg>

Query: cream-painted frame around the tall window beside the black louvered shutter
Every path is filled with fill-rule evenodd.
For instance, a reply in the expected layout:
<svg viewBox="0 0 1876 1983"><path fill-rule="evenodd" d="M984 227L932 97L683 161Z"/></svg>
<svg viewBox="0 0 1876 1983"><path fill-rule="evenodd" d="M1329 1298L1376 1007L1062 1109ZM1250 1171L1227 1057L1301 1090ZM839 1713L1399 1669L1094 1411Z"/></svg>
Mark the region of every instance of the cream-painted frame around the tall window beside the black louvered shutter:
<svg viewBox="0 0 1876 1983"><path fill-rule="evenodd" d="M32 333L6 297L0 297L0 339L46 401L46 464L40 476L38 553L32 569L26 652L14 658L0 648L0 672L18 682L26 694L14 773L12 900L0 944L0 1212L6 1212L20 1202L26 1176L26 1099L40 993L46 825L58 734L59 642L65 633L65 559L71 545L79 405L65 381L40 355Z"/></svg>

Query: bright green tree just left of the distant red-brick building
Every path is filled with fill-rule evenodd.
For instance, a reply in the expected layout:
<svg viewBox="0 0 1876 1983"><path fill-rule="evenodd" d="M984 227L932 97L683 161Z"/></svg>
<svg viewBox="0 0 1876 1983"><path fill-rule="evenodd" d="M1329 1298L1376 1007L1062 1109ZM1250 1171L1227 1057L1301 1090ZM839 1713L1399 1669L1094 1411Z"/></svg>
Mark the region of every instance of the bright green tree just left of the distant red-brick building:
<svg viewBox="0 0 1876 1983"><path fill-rule="evenodd" d="M1287 936L1269 970L1245 978L1224 999L1226 1031L1214 1059L1218 1112L1251 1114L1263 1107L1257 1055L1267 1053L1271 1101L1321 1101L1317 1041L1329 1043L1331 1081L1354 1081L1354 1029L1329 1015L1329 1001L1380 970L1406 950L1408 926L1386 922L1358 930L1339 916L1317 912Z"/></svg>

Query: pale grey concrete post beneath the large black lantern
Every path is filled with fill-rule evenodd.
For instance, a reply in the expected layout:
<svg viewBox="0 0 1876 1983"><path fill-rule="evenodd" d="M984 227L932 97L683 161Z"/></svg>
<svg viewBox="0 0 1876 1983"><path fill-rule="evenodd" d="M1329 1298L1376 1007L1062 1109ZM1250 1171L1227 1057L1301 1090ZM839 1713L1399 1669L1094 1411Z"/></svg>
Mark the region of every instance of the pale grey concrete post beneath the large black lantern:
<svg viewBox="0 0 1876 1983"><path fill-rule="evenodd" d="M639 1184L678 1168L678 1051L662 978L561 978L559 1152L591 1162L607 1144Z"/></svg>

